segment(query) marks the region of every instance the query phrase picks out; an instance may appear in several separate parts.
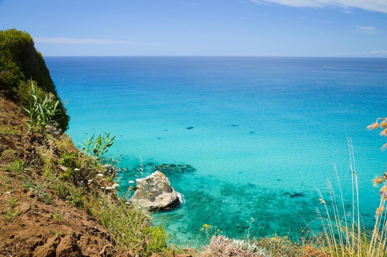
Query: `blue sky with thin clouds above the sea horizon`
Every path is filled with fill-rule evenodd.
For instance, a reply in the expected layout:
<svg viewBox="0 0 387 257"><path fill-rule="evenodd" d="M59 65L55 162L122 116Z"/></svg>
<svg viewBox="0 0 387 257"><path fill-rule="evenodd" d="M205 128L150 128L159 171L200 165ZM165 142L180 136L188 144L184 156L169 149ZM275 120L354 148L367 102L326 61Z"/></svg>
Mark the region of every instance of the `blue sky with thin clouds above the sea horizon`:
<svg viewBox="0 0 387 257"><path fill-rule="evenodd" d="M386 0L0 0L44 56L387 58Z"/></svg>

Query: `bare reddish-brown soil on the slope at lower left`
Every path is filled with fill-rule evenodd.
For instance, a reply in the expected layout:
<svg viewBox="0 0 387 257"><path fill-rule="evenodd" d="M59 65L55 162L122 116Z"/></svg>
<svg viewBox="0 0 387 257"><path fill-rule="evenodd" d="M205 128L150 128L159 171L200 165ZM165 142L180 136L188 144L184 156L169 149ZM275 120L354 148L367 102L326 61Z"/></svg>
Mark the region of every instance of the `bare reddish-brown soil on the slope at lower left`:
<svg viewBox="0 0 387 257"><path fill-rule="evenodd" d="M23 176L5 171L14 155L28 163L39 150L24 119L24 111L0 94L0 256L110 256L109 233L91 216L48 189L53 204L39 201L21 186L22 180L32 179L28 171ZM19 215L9 218L10 211Z"/></svg>

